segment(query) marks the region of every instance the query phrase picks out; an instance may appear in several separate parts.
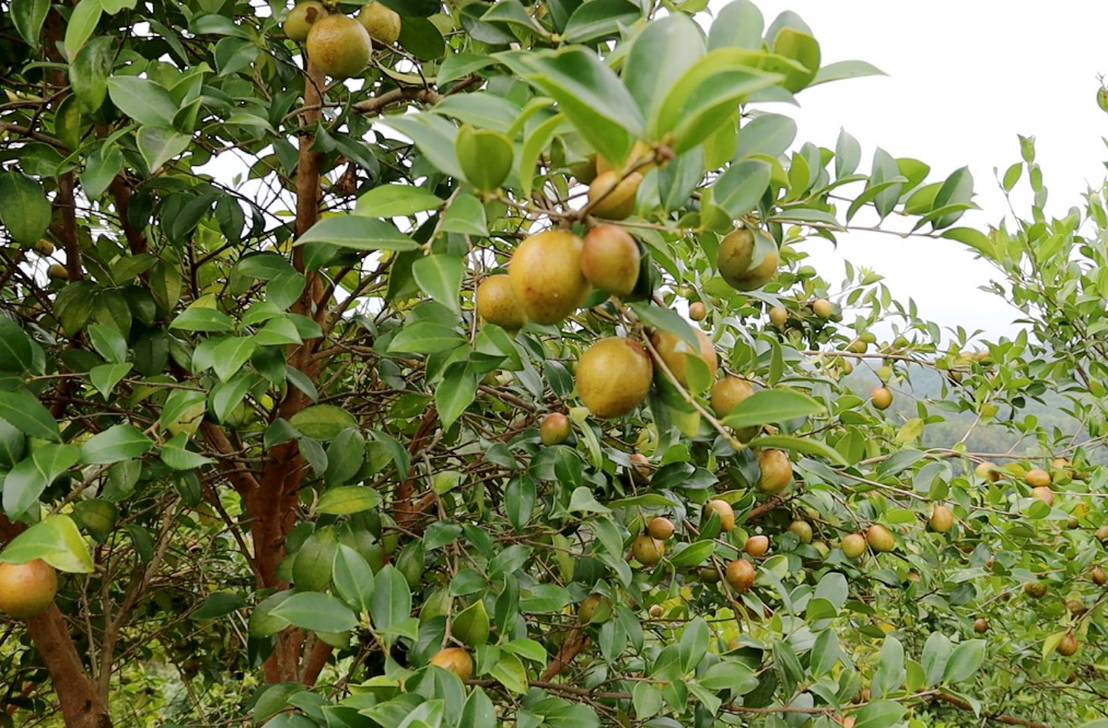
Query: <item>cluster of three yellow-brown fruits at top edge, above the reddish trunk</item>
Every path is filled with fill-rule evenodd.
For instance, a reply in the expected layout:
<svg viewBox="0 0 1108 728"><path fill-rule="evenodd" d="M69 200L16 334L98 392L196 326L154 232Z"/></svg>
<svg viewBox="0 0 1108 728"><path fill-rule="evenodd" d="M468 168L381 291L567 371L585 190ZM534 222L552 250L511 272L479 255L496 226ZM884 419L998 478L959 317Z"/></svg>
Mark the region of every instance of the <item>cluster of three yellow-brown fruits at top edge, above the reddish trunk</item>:
<svg viewBox="0 0 1108 728"><path fill-rule="evenodd" d="M308 58L332 79L361 74L373 54L373 41L391 45L400 38L400 16L371 0L357 19L332 13L322 2L307 0L289 11L283 29L290 40L305 43Z"/></svg>

